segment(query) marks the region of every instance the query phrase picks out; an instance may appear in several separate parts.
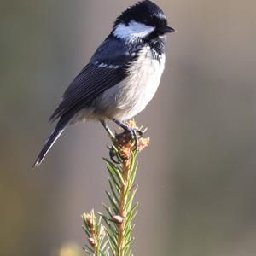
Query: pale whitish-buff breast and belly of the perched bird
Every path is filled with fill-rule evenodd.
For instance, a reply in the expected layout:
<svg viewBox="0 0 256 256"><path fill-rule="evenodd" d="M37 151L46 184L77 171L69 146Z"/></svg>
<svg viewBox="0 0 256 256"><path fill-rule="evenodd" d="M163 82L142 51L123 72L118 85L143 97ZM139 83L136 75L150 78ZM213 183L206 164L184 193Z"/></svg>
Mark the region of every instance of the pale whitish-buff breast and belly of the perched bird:
<svg viewBox="0 0 256 256"><path fill-rule="evenodd" d="M160 55L160 60L155 60L151 49L145 47L129 68L129 75L98 97L93 112L101 119L125 120L143 111L160 84L165 61L165 55Z"/></svg>

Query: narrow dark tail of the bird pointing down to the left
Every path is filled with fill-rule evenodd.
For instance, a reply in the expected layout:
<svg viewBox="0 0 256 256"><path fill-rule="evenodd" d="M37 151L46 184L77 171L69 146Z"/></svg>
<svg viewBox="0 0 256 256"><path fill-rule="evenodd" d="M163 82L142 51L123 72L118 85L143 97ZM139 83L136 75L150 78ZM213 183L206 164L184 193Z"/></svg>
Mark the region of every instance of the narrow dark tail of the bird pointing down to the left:
<svg viewBox="0 0 256 256"><path fill-rule="evenodd" d="M66 125L57 125L55 131L50 135L46 143L44 144L44 148L38 155L37 160L33 164L32 168L38 167L42 161L44 160L45 155L49 152L49 149L53 146L58 137L61 136L61 133L64 131Z"/></svg>

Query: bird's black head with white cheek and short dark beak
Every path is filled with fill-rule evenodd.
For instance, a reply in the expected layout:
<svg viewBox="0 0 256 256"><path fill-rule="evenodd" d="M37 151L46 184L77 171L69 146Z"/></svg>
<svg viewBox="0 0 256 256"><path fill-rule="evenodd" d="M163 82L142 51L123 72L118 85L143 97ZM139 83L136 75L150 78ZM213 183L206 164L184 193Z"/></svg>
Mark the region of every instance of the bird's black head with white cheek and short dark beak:
<svg viewBox="0 0 256 256"><path fill-rule="evenodd" d="M155 3L145 0L125 10L113 25L113 36L125 41L163 38L175 30L167 26L166 15Z"/></svg>

